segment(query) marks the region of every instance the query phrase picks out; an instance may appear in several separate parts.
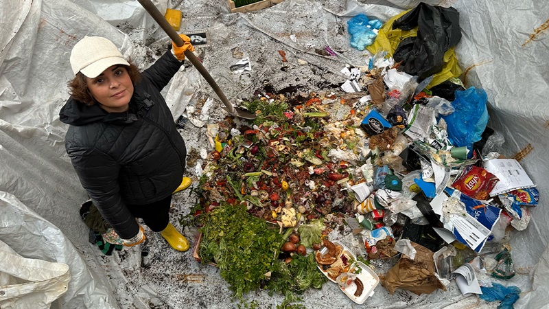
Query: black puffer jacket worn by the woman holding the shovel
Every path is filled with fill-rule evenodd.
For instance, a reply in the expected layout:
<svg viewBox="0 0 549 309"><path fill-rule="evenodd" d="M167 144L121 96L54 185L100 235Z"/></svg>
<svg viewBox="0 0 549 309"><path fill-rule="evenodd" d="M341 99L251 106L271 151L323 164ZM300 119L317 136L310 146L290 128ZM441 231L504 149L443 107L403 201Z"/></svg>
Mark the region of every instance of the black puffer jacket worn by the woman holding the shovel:
<svg viewBox="0 0 549 309"><path fill-rule="evenodd" d="M121 238L139 231L126 205L160 201L183 179L185 142L160 93L182 64L167 52L146 69L125 113L73 98L59 113L71 125L65 147L80 183Z"/></svg>

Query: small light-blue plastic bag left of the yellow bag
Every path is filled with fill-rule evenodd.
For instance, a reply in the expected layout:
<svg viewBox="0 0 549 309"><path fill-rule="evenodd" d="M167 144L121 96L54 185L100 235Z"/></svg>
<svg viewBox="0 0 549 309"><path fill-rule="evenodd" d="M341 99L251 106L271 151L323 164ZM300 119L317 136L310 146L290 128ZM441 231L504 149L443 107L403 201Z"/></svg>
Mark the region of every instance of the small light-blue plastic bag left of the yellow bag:
<svg viewBox="0 0 549 309"><path fill-rule="evenodd" d="M351 46L358 50L364 50L372 45L377 37L377 31L383 23L379 19L369 20L364 14L358 14L347 21L347 31L351 34Z"/></svg>

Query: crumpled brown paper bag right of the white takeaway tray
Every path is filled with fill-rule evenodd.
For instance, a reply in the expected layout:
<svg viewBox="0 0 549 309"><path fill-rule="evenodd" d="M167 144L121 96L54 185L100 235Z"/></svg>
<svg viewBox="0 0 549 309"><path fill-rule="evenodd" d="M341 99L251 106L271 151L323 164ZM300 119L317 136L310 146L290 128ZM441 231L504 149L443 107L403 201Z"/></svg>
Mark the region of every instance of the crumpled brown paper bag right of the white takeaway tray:
<svg viewBox="0 0 549 309"><path fill-rule="evenodd" d="M414 260L402 254L399 262L388 271L382 286L391 294L395 293L397 288L409 290L417 295L430 294L437 288L446 290L444 284L434 275L433 252L415 242L412 242L412 246L416 249Z"/></svg>

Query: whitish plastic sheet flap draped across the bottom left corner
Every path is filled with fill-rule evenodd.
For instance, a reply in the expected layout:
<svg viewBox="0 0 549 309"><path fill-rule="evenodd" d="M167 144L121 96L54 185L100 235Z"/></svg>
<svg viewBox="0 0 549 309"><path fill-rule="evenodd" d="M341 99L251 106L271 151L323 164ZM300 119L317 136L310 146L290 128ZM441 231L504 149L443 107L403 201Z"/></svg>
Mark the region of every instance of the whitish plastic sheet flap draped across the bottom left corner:
<svg viewBox="0 0 549 309"><path fill-rule="evenodd" d="M25 258L64 263L69 266L68 277L67 275L59 277L63 280L62 282L70 280L68 289L51 304L51 308L118 308L113 295L110 295L110 291L105 288L108 286L108 282L104 275L96 273L92 269L93 266L90 266L89 262L82 258L73 243L58 227L28 209L14 195L1 191L0 211L2 213L0 216L0 239L12 250ZM78 227L78 229L84 230L82 227ZM73 231L73 233L78 233L78 231ZM85 241L80 240L81 244ZM59 272L60 266L56 268L56 271L52 268L52 273ZM0 272L2 271L0 270ZM27 279L29 277L24 269L14 275ZM43 271L43 275L47 275L47 272ZM53 280L51 283L56 284ZM54 294L53 288L52 286L52 290L49 291L50 295ZM36 290L36 294L38 292L39 290ZM24 298L21 296L16 308L50 308L41 302L45 299L38 298L38 295L29 295L27 299Z"/></svg>

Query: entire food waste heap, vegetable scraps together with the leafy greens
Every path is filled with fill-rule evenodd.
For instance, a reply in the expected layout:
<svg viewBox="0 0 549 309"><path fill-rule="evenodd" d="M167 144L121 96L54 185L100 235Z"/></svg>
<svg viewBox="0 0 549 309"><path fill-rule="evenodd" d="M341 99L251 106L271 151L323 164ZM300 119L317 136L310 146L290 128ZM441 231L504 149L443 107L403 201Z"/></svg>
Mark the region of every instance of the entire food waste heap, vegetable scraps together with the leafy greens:
<svg viewBox="0 0 549 309"><path fill-rule="evenodd" d="M195 258L220 268L236 297L266 286L288 304L338 277L318 267L345 258L327 234L354 213L358 203L342 189L364 181L355 165L373 157L360 143L362 114L353 102L334 93L280 95L247 103L257 115L253 123L228 118L209 127L215 150L202 168L194 209L202 233ZM331 122L334 106L342 116ZM319 255L324 247L329 252Z"/></svg>

